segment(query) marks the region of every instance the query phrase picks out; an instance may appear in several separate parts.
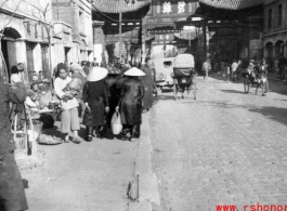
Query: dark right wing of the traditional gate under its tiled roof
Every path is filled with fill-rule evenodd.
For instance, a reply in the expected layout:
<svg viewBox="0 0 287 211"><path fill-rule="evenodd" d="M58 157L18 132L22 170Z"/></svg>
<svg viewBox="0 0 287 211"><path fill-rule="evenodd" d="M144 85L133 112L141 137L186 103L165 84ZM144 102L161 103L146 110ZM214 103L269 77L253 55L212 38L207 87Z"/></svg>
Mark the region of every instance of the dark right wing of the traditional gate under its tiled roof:
<svg viewBox="0 0 287 211"><path fill-rule="evenodd" d="M212 60L262 58L263 0L199 0Z"/></svg>

